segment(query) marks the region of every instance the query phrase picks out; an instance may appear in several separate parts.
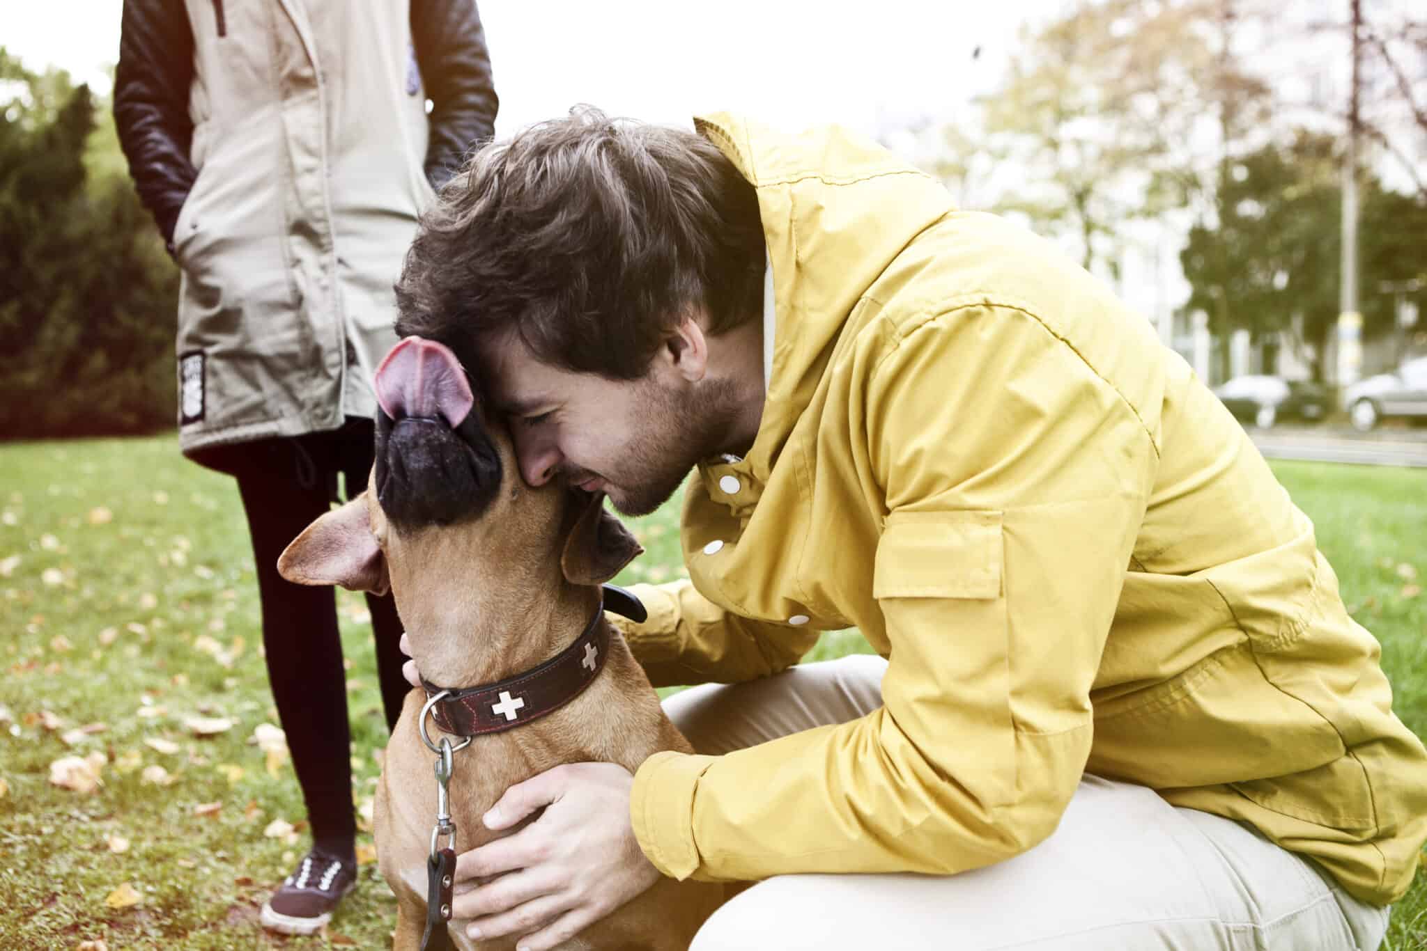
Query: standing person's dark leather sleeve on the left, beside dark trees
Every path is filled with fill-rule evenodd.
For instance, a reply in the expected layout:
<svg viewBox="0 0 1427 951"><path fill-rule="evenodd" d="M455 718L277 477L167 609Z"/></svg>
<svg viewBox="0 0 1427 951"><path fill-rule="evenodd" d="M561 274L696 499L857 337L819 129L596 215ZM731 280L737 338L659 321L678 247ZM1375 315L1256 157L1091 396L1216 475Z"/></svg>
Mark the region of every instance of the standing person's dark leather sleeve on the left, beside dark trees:
<svg viewBox="0 0 1427 951"><path fill-rule="evenodd" d="M197 178L188 145L193 27L183 0L124 0L114 123L138 197L173 252L174 224Z"/></svg>

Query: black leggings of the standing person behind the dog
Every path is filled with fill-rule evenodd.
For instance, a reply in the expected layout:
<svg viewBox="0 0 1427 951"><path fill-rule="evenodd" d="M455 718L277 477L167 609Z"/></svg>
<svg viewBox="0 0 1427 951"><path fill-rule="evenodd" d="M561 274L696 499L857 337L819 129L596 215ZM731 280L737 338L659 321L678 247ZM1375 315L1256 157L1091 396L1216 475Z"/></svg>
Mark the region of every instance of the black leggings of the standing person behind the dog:
<svg viewBox="0 0 1427 951"><path fill-rule="evenodd" d="M351 727L347 672L331 587L294 585L277 573L287 543L337 498L341 472L347 496L367 488L372 423L348 419L334 432L244 445L231 465L243 496L257 559L263 602L263 646L277 714L287 731L313 838L350 853L357 836L351 788ZM401 676L401 620L391 596L367 595L377 642L377 679L392 727L411 686Z"/></svg>

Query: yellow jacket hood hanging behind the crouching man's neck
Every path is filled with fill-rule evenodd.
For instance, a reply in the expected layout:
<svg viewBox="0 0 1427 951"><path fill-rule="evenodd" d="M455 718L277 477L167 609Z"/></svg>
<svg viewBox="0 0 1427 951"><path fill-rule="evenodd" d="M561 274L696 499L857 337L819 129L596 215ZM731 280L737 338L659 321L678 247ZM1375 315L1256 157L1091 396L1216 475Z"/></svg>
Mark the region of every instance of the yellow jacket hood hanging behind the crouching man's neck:
<svg viewBox="0 0 1427 951"><path fill-rule="evenodd" d="M696 115L694 127L758 192L776 334L748 463L766 479L843 331L869 318L859 301L912 238L953 205L935 178L846 128L788 134L728 113Z"/></svg>

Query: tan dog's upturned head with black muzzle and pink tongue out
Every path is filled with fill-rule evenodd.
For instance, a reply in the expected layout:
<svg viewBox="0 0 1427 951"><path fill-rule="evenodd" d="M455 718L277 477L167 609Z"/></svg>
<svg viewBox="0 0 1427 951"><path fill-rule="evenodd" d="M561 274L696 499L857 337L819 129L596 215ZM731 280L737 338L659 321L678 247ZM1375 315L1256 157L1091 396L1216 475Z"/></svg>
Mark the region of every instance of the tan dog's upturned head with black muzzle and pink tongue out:
<svg viewBox="0 0 1427 951"><path fill-rule="evenodd" d="M310 525L278 559L300 585L404 595L421 585L544 587L558 565L598 585L642 552L604 496L527 486L504 422L487 416L455 355L408 336L375 376L377 455L367 492Z"/></svg>

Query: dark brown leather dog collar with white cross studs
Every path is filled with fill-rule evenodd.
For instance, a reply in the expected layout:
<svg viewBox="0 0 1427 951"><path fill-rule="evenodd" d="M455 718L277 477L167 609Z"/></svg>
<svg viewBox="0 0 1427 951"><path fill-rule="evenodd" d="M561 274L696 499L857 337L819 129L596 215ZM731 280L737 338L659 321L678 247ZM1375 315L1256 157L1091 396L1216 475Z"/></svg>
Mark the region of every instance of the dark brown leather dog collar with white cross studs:
<svg viewBox="0 0 1427 951"><path fill-rule="evenodd" d="M629 592L605 585L595 616L569 647L524 673L477 687L438 687L422 679L427 699L445 693L431 714L437 726L454 736L499 733L538 720L565 706L584 692L605 667L609 653L609 610L645 620L644 605Z"/></svg>

